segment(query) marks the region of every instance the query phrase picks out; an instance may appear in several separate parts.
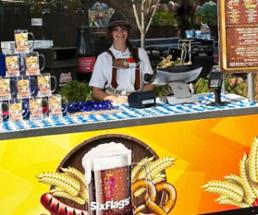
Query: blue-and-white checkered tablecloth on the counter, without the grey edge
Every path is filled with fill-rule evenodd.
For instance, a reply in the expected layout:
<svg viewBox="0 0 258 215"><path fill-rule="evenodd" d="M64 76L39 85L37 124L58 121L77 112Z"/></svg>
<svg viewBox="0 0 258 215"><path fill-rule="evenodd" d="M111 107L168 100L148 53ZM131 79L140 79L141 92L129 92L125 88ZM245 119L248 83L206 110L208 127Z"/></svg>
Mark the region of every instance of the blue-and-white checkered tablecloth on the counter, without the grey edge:
<svg viewBox="0 0 258 215"><path fill-rule="evenodd" d="M212 111L235 110L244 108L258 107L257 103L250 103L247 99L236 95L223 95L222 100L229 102L225 106L209 106L214 101L213 94L206 94L199 97L196 104L164 104L157 103L155 107L145 109L130 108L128 105L118 105L115 110L105 112L95 112L91 114L64 116L64 117L46 117L39 120L24 120L18 122L2 122L0 123L0 133L15 132L22 130L33 130L41 128L54 128L71 125L85 125L92 123L101 123L108 121L153 118L159 116L172 116L194 114Z"/></svg>

